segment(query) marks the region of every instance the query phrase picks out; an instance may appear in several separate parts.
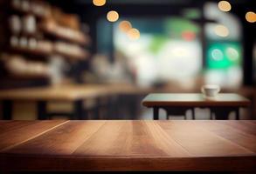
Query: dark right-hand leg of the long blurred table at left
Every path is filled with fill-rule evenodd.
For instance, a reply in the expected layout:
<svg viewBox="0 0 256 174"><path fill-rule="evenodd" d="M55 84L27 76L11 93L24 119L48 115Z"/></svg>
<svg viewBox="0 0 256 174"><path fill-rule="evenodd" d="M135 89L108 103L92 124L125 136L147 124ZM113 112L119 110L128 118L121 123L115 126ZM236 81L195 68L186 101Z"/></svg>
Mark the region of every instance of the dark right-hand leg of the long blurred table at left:
<svg viewBox="0 0 256 174"><path fill-rule="evenodd" d="M83 100L73 102L73 117L71 119L87 119L86 110L83 109Z"/></svg>

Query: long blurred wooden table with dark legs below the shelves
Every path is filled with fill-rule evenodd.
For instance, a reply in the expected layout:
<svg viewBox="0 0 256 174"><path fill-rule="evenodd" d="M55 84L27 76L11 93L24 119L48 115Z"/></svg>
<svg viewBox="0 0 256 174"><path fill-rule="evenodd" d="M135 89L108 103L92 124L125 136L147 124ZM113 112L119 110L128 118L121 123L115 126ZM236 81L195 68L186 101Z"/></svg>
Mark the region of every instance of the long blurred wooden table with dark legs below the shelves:
<svg viewBox="0 0 256 174"><path fill-rule="evenodd" d="M37 103L38 119L48 119L52 115L68 115L70 119L86 119L83 103L86 99L107 96L106 89L100 85L63 85L42 88L27 88L1 90L0 100L3 101L3 119L11 119L12 104L15 101L35 101ZM49 113L47 102L70 102L72 113Z"/></svg>

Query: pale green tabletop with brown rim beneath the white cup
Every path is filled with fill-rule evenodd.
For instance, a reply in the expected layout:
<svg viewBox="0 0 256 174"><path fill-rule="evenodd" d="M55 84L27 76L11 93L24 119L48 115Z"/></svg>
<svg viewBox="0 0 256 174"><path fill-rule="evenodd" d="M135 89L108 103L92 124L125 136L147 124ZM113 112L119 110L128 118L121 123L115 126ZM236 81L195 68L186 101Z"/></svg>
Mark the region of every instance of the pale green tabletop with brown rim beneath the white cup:
<svg viewBox="0 0 256 174"><path fill-rule="evenodd" d="M201 93L153 93L142 101L147 107L156 106L235 106L246 107L250 100L233 93L220 93L214 99L207 99Z"/></svg>

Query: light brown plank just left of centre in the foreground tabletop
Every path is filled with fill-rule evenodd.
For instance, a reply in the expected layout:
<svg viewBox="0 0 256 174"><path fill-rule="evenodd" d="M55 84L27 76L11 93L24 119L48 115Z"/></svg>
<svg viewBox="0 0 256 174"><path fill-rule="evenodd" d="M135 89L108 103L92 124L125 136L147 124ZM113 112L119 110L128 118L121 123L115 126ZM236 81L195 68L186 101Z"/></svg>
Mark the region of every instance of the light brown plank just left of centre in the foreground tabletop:
<svg viewBox="0 0 256 174"><path fill-rule="evenodd" d="M126 156L128 155L128 142L132 141L132 137L132 123L128 121L107 122L73 154L90 157Z"/></svg>

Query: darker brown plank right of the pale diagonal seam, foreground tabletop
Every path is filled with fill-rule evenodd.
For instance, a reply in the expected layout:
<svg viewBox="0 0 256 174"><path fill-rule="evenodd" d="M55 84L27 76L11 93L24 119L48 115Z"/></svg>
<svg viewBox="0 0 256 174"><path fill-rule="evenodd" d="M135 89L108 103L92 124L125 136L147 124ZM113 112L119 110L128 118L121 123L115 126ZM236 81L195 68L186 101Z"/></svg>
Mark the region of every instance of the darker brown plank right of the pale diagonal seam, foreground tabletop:
<svg viewBox="0 0 256 174"><path fill-rule="evenodd" d="M98 131L104 123L105 121L69 121L52 131L47 131L40 137L33 138L12 148L8 153L71 155L86 139Z"/></svg>

